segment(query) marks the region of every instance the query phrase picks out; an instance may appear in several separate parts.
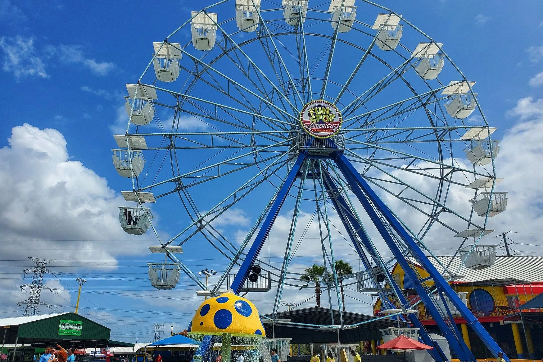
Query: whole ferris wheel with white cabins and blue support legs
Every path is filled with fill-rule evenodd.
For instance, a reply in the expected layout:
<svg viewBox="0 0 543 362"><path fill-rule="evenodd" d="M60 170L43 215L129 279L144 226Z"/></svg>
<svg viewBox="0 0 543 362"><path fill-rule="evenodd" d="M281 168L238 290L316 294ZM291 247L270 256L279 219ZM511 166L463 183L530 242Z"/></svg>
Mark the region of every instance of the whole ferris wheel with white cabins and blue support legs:
<svg viewBox="0 0 543 362"><path fill-rule="evenodd" d="M391 275L397 263L458 358L475 359L449 303L497 354L447 284L459 268L433 252L437 232L458 240L451 252L462 265L493 264L495 246L478 242L507 205L507 193L495 192L496 128L443 44L364 0L223 0L195 10L153 43L143 74L127 84L127 132L115 136L113 163L132 186L122 194L136 202L119 207L121 225L153 231L160 245L151 252L165 253L149 263L154 287L174 288L182 271L200 295L268 292L278 322L285 289L308 287L299 264L320 263L324 274L306 277L321 278L339 320L308 327L352 327L340 308L345 282L377 293L437 346L409 313L416 302ZM155 202L183 221L168 239L153 225ZM243 237L224 231L225 220L242 219ZM176 256L193 244L224 261L216 285ZM335 266L345 247L363 266L349 276ZM439 346L432 353L445 359Z"/></svg>

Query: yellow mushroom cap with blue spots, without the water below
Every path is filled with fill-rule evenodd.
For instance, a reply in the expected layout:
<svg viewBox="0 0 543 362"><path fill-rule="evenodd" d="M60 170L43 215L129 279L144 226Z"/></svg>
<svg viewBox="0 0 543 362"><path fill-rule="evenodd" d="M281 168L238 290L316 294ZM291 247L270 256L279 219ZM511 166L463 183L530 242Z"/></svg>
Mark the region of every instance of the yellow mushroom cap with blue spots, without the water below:
<svg viewBox="0 0 543 362"><path fill-rule="evenodd" d="M207 299L196 310L187 332L194 334L265 337L255 304L233 293Z"/></svg>

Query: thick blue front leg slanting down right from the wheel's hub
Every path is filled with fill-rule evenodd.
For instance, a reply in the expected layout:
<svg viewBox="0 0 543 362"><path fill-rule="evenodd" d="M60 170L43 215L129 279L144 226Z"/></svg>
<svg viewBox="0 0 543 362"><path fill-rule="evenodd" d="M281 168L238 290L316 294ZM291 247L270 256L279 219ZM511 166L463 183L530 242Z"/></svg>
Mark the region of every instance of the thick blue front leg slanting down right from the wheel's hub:
<svg viewBox="0 0 543 362"><path fill-rule="evenodd" d="M496 357L498 352L503 353L500 346L497 345L497 343L486 331L486 329L484 329L481 323L479 323L478 319L473 316L468 307L466 307L465 304L459 299L449 283L447 283L445 278L439 273L437 269L435 269L435 266L430 262L424 252L422 252L420 247L409 235L407 230L403 227L403 225L401 225L400 221L397 220L392 211L390 211L390 209L384 204L384 202L377 196L374 190L371 189L368 183L358 173L358 171L345 157L345 155L339 155L336 162L339 168L342 170L343 174L347 177L349 185L351 186L353 192L355 192L357 198L364 206L364 209L380 231L383 238L386 240L388 246L390 247L390 250L396 256L397 262L400 263L400 266L406 272L406 275L413 281L415 289L417 290L421 299L424 301L426 308L430 311L441 331L445 332L445 337L451 344L453 351L458 354L460 360L475 360L475 357L473 357L473 354L469 350L468 346L466 346L465 342L459 335L453 336L453 329L446 325L438 309L434 306L430 296L426 294L426 291L422 287L421 282L418 280L415 271L411 269L411 266L409 266L409 263L406 260L405 256L403 256L403 253L395 244L393 238L384 227L380 217L377 215L372 206L374 206L383 215L383 217L387 220L388 224L392 226L393 230L409 247L409 250L420 263L422 268L425 269L428 274L430 274L436 286L440 288L443 293L445 293L449 300L459 310L460 314L462 314L464 319L468 322L468 325L473 328L473 331L477 333L479 338L481 338L481 340L487 346L490 352L493 353ZM504 359L509 361L509 358L506 355L504 355L503 357Z"/></svg>

